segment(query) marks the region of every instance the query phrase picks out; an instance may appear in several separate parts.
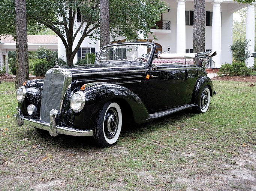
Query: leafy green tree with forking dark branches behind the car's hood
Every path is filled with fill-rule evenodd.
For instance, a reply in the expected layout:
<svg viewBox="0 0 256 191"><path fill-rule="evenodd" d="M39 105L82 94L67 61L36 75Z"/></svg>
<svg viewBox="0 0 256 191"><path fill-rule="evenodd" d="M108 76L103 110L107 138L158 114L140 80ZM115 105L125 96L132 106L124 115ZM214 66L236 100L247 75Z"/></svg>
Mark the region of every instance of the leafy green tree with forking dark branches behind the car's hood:
<svg viewBox="0 0 256 191"><path fill-rule="evenodd" d="M1 0L0 10L4 6L12 9L13 0ZM68 65L73 65L73 58L86 37L99 39L100 0L27 0L27 22L30 28L42 24L60 37L66 49ZM161 0L110 0L109 18L112 40L125 37L127 40L138 38L138 31L144 37L156 26L162 12L167 10ZM7 12L7 11L6 11ZM0 22L13 26L12 12L0 14ZM76 20L77 19L77 20ZM78 21L78 22L76 22ZM5 25L0 24L0 34L6 34ZM78 42L74 44L75 38Z"/></svg>

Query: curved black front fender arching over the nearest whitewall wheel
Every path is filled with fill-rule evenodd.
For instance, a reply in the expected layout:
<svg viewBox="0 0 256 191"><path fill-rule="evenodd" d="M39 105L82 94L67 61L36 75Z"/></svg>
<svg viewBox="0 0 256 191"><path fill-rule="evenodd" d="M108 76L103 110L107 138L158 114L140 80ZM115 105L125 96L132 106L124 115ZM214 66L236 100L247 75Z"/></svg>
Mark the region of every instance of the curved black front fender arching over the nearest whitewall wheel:
<svg viewBox="0 0 256 191"><path fill-rule="evenodd" d="M148 111L141 99L132 91L117 84L96 84L83 90L86 100L84 109L79 113L72 111L72 124L76 127L82 124L93 126L104 103L109 100L126 103L121 109L131 110L134 121L142 123L150 119ZM125 116L123 116L125 118ZM85 128L85 127L84 127ZM87 127L88 128L88 127Z"/></svg>

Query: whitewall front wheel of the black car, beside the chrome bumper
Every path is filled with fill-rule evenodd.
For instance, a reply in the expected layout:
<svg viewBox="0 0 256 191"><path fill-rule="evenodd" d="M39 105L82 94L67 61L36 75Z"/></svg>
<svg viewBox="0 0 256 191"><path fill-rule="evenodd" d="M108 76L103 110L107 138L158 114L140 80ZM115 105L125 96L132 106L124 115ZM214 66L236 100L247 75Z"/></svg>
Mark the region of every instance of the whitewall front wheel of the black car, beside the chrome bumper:
<svg viewBox="0 0 256 191"><path fill-rule="evenodd" d="M93 139L99 147L112 146L117 142L121 128L121 108L117 103L109 101L99 111Z"/></svg>

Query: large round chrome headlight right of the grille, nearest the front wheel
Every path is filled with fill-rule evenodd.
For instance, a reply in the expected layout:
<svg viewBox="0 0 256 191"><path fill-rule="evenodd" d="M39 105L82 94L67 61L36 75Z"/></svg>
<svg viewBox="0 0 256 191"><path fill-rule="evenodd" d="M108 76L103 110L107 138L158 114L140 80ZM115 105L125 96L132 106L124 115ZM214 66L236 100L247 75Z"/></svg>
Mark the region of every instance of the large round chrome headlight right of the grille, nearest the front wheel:
<svg viewBox="0 0 256 191"><path fill-rule="evenodd" d="M74 93L70 99L70 107L73 112L81 112L85 104L85 95L82 91Z"/></svg>

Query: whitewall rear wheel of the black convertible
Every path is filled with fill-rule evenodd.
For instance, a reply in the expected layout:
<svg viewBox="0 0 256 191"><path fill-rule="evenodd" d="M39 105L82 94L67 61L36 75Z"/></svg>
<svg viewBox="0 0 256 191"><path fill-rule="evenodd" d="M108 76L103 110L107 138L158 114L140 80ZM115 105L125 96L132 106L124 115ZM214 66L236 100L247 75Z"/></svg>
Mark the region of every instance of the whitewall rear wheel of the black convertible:
<svg viewBox="0 0 256 191"><path fill-rule="evenodd" d="M207 112L211 100L211 93L208 86L205 86L202 90L202 93L198 95L196 111L198 113Z"/></svg>

